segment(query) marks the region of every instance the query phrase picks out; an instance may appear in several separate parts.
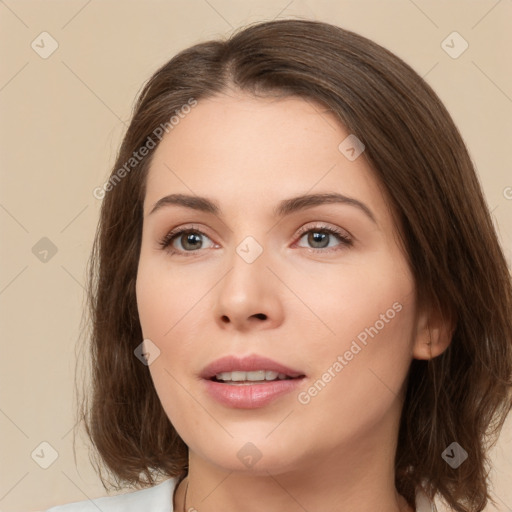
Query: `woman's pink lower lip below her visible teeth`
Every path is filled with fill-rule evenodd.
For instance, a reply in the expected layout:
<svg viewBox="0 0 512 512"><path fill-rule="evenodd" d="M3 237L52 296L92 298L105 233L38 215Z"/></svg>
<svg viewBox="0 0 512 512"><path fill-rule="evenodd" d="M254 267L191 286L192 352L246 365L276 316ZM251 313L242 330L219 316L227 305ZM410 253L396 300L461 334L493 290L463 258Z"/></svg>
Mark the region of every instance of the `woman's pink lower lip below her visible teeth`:
<svg viewBox="0 0 512 512"><path fill-rule="evenodd" d="M237 409L264 407L280 396L295 390L303 378L274 380L257 384L224 384L205 380L207 393L217 402Z"/></svg>

